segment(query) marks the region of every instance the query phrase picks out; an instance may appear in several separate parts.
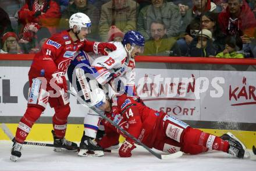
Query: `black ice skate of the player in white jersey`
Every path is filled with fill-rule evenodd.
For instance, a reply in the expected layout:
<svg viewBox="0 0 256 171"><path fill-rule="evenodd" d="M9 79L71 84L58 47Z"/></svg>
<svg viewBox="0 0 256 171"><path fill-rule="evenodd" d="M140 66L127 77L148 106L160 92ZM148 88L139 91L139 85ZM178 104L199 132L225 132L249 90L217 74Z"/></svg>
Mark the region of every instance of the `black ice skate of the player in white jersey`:
<svg viewBox="0 0 256 171"><path fill-rule="evenodd" d="M78 155L88 157L101 157L104 155L104 152L103 148L100 147L94 139L83 134Z"/></svg>

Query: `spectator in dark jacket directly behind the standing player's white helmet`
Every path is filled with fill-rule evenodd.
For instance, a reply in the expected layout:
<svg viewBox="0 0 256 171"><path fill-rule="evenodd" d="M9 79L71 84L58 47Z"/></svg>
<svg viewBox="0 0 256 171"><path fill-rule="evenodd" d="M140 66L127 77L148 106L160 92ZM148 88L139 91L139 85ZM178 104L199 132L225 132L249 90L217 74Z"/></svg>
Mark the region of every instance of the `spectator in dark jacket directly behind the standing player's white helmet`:
<svg viewBox="0 0 256 171"><path fill-rule="evenodd" d="M59 24L61 30L69 28L69 18L74 13L84 13L91 19L92 27L91 34L87 36L91 41L98 41L98 21L99 21L99 10L87 0L74 0L72 5L69 5L67 10L62 13L62 19Z"/></svg>

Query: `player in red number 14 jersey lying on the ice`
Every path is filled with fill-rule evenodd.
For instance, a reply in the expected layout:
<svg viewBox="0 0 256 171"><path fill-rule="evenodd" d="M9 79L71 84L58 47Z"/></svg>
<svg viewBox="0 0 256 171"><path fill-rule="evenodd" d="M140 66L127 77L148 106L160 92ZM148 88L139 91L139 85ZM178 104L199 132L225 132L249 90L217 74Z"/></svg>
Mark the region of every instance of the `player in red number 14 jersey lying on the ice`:
<svg viewBox="0 0 256 171"><path fill-rule="evenodd" d="M169 153L183 151L187 154L218 150L238 158L244 157L242 145L228 134L218 137L191 128L187 123L162 111L152 110L143 103L138 103L133 98L127 97L126 94L118 96L117 106L111 107L110 100L106 98L101 89L96 89L93 93L97 94L97 98L93 101L95 107L106 111L107 117L149 148L154 147ZM102 120L102 124L106 134L98 141L98 144L102 148L108 148L118 143L119 135L122 132L105 119ZM134 148L136 148L134 141L126 137L119 148L120 157L131 157L131 150Z"/></svg>

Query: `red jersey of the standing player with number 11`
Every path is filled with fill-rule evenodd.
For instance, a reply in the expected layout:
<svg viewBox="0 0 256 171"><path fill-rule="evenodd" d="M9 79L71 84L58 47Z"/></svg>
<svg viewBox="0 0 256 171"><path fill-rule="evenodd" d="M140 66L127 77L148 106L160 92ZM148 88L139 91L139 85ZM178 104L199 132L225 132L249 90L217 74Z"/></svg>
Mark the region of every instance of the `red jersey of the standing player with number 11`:
<svg viewBox="0 0 256 171"><path fill-rule="evenodd" d="M67 67L77 50L94 52L93 46L94 42L87 41L87 39L79 39L73 42L67 31L54 34L45 41L41 51L35 54L29 75L44 76L47 79L51 79L52 74L56 72L65 75Z"/></svg>

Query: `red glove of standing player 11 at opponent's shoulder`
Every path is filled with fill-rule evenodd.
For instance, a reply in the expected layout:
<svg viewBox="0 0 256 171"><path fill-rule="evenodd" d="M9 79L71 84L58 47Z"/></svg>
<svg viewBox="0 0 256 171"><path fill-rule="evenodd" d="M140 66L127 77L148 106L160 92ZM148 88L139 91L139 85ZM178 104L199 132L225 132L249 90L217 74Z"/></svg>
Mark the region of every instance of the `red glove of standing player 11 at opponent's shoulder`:
<svg viewBox="0 0 256 171"><path fill-rule="evenodd" d="M93 50L95 54L102 54L104 56L108 55L108 51L116 50L116 46L112 43L106 43L106 42L95 42L93 45Z"/></svg>

